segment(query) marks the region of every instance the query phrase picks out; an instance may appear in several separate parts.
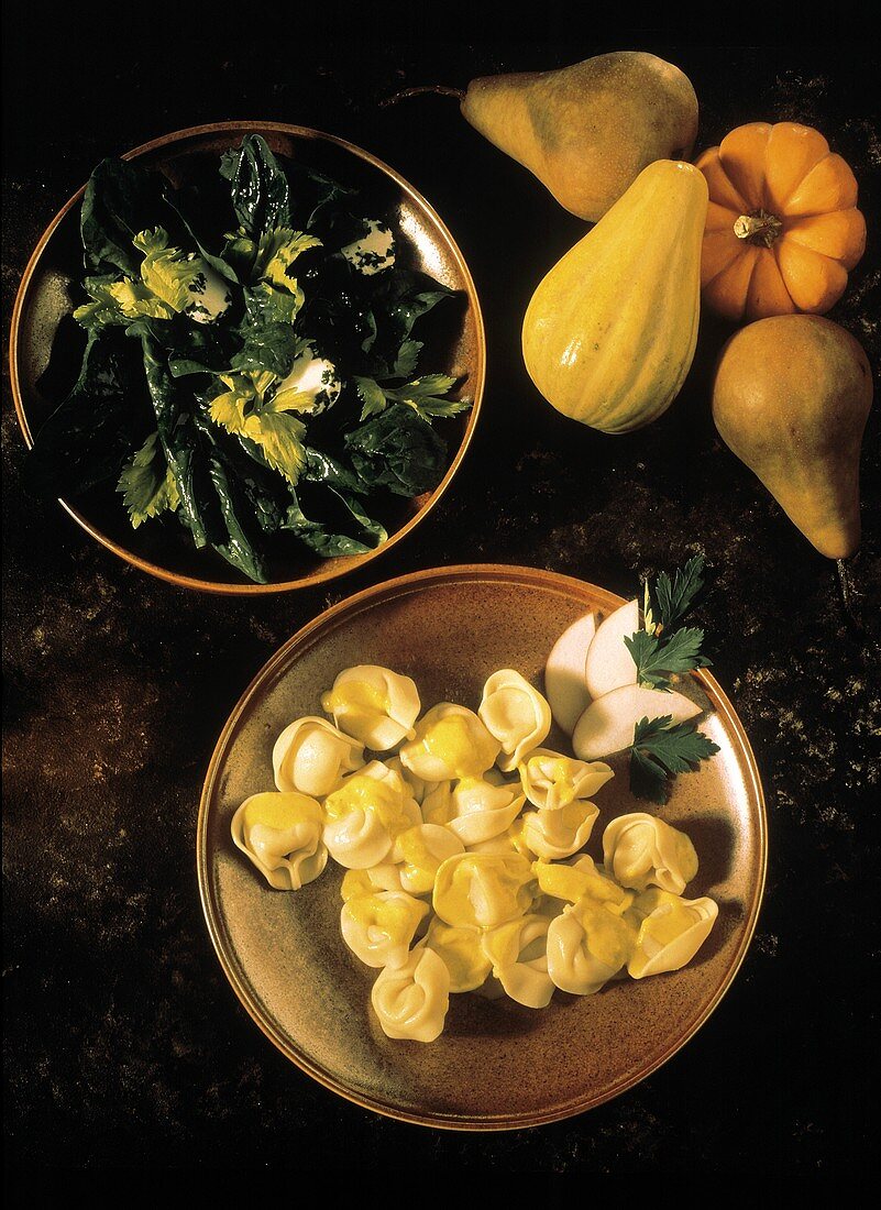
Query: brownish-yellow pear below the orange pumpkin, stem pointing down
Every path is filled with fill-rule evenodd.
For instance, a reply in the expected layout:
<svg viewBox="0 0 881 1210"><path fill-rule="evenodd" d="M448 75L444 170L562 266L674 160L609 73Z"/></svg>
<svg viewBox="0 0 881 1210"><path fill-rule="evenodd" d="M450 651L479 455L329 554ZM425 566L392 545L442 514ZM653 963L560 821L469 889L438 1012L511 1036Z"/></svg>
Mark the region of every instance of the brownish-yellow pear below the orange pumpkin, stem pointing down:
<svg viewBox="0 0 881 1210"><path fill-rule="evenodd" d="M750 323L716 365L719 434L830 559L859 547L859 453L873 393L859 341L818 315Z"/></svg>

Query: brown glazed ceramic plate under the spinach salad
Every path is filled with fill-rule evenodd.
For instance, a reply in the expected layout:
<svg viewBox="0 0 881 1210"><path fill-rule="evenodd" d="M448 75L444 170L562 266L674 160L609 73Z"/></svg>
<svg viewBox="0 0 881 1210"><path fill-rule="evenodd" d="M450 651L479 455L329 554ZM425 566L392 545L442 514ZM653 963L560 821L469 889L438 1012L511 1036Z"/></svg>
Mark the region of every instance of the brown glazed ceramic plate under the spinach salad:
<svg viewBox="0 0 881 1210"><path fill-rule="evenodd" d="M292 541L270 564L272 582L269 584L246 581L213 551L196 551L183 526L146 524L133 530L120 497L111 489L77 502L76 507L62 501L92 537L128 563L173 583L218 593L278 592L332 580L376 558L409 534L444 492L465 455L480 410L485 378L483 319L465 259L428 202L375 156L342 139L300 126L218 122L166 134L126 152L125 159L137 157L165 173L175 186L182 186L196 173L206 168L213 171L219 156L238 145L247 133L261 134L278 155L359 189L365 204L387 217L401 232L399 261L462 292L460 302L438 307L431 328L420 333L420 339L426 341L421 363L455 378L463 376L462 392L473 399L473 407L445 422L449 466L434 491L401 501L382 517L390 535L384 546L368 554L321 559ZM12 391L28 445L73 386L79 370L79 353L73 357L73 352L80 350L75 325L71 333L63 324L73 324L70 287L82 275L79 223L84 189L70 198L40 240L13 309ZM51 359L53 365L61 363L62 367L65 359L70 361L67 376L64 369L45 373Z"/></svg>

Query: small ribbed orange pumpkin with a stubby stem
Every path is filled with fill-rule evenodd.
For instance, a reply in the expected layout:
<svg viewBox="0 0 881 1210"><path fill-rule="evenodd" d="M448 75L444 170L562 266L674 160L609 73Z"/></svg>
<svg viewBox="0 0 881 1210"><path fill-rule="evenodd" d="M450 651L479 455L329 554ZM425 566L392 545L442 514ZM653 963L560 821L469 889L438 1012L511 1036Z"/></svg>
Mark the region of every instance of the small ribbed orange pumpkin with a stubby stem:
<svg viewBox="0 0 881 1210"><path fill-rule="evenodd" d="M857 180L823 136L750 122L697 160L709 186L704 304L727 319L823 315L865 249Z"/></svg>

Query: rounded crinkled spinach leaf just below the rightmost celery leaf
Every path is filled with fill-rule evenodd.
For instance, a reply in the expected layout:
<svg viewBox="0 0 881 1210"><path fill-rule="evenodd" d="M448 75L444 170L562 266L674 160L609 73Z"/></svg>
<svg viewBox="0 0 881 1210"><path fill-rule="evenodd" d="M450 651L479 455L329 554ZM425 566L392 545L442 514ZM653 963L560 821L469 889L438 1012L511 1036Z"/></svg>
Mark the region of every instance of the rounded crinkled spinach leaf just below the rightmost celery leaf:
<svg viewBox="0 0 881 1210"><path fill-rule="evenodd" d="M404 404L396 403L345 437L352 466L370 488L397 496L433 491L443 477L447 443Z"/></svg>

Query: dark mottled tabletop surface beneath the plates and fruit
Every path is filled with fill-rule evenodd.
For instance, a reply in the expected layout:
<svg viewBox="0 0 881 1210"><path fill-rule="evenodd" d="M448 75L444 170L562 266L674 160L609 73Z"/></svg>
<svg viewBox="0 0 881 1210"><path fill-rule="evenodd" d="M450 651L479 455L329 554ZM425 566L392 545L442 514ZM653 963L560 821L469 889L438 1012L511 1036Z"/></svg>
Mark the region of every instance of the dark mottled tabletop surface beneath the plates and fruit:
<svg viewBox="0 0 881 1210"><path fill-rule="evenodd" d="M172 39L154 10L126 10L125 53L114 54L99 25L88 36L70 12L42 29L39 10L7 16L7 316L41 231L103 155L212 120L292 121L368 148L445 218L483 301L489 378L465 465L410 540L330 590L243 601L152 581L56 505L27 499L5 376L12 1182L56 1168L868 1170L879 1078L881 684L873 646L842 612L834 565L715 436L708 382L725 332L702 324L690 379L650 428L612 439L564 421L529 382L519 328L539 277L581 224L472 131L455 102L378 103L410 85L463 87L476 75L565 65L627 45L691 77L702 104L698 149L749 120L818 127L854 167L870 230L830 317L877 367L873 100L881 62L819 40L738 46L651 29L572 40L560 6L548 8L542 36L500 44L421 29L409 41L361 40L351 30L347 40L310 41L303 10L271 36L224 30L218 13L198 39L183 25ZM866 613L881 605L880 430L876 405L863 455L865 536L852 569ZM300 1073L236 1001L196 888L202 778L244 685L329 601L379 578L497 561L626 593L698 549L712 564L702 616L714 670L755 749L771 846L758 934L709 1022L615 1101L502 1135L376 1117Z"/></svg>

